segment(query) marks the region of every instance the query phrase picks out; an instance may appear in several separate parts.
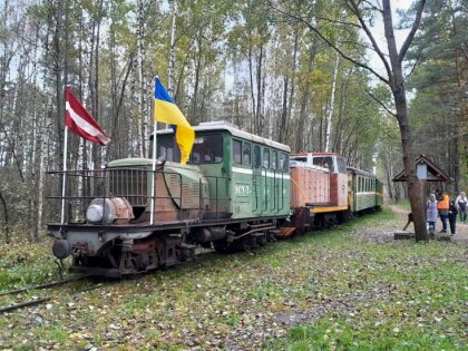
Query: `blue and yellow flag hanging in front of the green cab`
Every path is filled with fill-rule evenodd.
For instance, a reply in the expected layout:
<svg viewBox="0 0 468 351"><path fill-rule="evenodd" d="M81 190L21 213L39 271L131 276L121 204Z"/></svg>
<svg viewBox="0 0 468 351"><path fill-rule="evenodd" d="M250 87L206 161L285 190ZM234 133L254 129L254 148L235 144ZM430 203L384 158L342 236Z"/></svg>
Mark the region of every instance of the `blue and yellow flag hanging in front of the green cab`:
<svg viewBox="0 0 468 351"><path fill-rule="evenodd" d="M174 129L181 149L181 164L185 165L194 145L195 131L158 77L155 80L155 119L169 124Z"/></svg>

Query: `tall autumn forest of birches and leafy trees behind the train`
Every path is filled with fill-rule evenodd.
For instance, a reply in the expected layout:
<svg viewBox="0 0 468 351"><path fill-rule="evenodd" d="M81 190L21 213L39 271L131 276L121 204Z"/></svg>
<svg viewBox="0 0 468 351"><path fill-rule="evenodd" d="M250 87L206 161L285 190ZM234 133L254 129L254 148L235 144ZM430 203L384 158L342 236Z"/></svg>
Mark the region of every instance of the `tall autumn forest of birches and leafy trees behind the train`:
<svg viewBox="0 0 468 351"><path fill-rule="evenodd" d="M394 11L396 31L418 13ZM111 138L70 137L68 168L92 169L148 156L156 75L193 126L226 120L293 153L339 153L406 197L391 182L403 168L394 101L360 22L382 37L381 14L380 1L355 0L3 0L1 240L45 234L65 87ZM468 184L467 31L468 1L428 0L402 61L412 150L450 175L454 193Z"/></svg>

